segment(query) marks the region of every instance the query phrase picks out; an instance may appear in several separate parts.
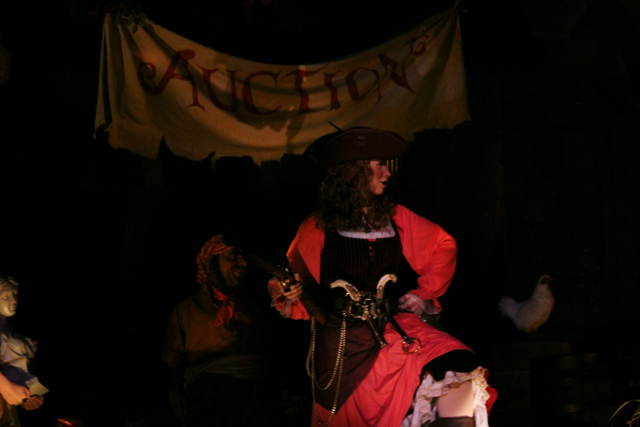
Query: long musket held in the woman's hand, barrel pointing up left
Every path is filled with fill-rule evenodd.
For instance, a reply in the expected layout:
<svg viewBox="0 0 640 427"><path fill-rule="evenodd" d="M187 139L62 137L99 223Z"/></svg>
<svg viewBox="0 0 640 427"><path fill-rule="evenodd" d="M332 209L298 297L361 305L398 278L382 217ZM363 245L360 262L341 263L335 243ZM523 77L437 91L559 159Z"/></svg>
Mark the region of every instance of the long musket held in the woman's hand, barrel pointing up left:
<svg viewBox="0 0 640 427"><path fill-rule="evenodd" d="M262 268L262 270L274 275L280 281L283 291L289 292L290 287L298 282L294 271L292 271L291 266L289 266L289 259L287 259L287 257L280 259L280 261L274 261L264 254L259 254L259 252L250 246L240 243L234 232L226 232L223 234L222 241L227 246L233 246L247 261L253 262L253 264ZM326 310L316 302L312 291L310 291L308 287L305 287L304 282L302 282L302 286L302 293L298 295L298 299L300 299L300 302L305 306L305 309L307 309L311 316L314 316L320 323L324 323L324 321L326 321Z"/></svg>

